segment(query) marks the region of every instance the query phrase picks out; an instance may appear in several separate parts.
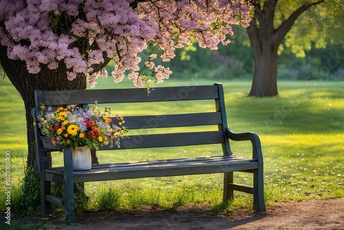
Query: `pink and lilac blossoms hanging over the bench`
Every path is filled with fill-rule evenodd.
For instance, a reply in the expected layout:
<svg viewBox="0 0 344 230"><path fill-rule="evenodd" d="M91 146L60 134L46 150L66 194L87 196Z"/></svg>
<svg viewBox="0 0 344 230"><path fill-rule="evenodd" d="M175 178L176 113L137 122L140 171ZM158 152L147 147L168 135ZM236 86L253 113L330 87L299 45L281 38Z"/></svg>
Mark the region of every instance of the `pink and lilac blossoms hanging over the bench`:
<svg viewBox="0 0 344 230"><path fill-rule="evenodd" d="M56 70L61 61L69 80L86 74L91 86L107 76L94 67L115 63L114 81L129 70L129 79L141 86L138 53L153 42L169 61L175 49L191 45L195 36L202 48L217 49L229 43L230 25L248 26L250 6L244 0L0 0L0 44L10 59L25 61L28 72L42 67ZM238 16L240 15L240 17ZM171 74L168 68L147 67L161 83Z"/></svg>

